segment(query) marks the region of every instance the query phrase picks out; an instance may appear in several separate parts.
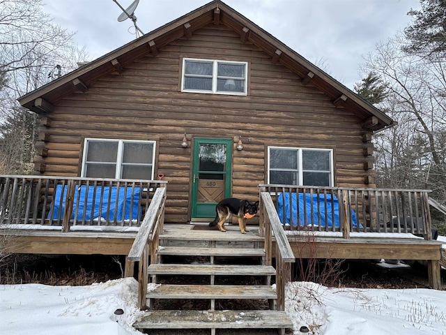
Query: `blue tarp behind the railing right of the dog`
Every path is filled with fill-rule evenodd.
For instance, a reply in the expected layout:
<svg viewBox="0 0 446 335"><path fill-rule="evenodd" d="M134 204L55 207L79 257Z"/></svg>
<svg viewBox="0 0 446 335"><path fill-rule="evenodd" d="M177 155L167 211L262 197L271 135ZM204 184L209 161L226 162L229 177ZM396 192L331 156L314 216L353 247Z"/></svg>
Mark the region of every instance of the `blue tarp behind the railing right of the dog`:
<svg viewBox="0 0 446 335"><path fill-rule="evenodd" d="M278 208L277 213L279 214L280 221L284 223L289 223L296 226L298 225L316 225L325 227L332 227L334 223L334 227L339 227L339 201L337 200L335 195L327 194L309 194L305 193L305 201L304 194L299 193L299 202L296 199L296 193L291 193L291 204L292 211L290 211L290 193L279 193L277 195ZM324 200L325 198L325 200ZM327 220L325 220L325 203L327 202ZM284 202L285 202L285 217L283 215L284 211ZM299 211L298 211L299 204ZM312 204L313 204L313 213L312 213ZM319 207L318 207L319 204ZM306 207L304 211L304 207ZM333 209L333 210L332 210ZM299 213L299 220L298 220ZM334 218L333 218L334 213ZM290 214L292 215L292 220L290 220ZM304 214L306 214L306 218L304 219ZM356 214L354 211L351 211L351 221L353 223L353 227L356 227ZM320 220L320 222L319 222ZM327 222L325 222L327 221Z"/></svg>

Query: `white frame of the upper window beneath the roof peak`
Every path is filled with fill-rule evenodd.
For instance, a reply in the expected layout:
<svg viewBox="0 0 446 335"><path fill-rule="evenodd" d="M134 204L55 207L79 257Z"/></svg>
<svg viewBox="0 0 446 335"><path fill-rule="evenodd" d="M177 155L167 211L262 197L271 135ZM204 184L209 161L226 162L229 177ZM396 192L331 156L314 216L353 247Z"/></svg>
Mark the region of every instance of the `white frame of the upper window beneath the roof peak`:
<svg viewBox="0 0 446 335"><path fill-rule="evenodd" d="M203 90L203 89L185 89L185 62L186 61L196 61L203 63L212 63L213 64L213 74L212 74L212 90ZM237 64L245 66L245 77L223 77L226 79L238 79L244 81L244 91L217 91L217 79L222 77L217 77L218 64ZM183 70L181 73L181 91L182 92L191 92L191 93L204 93L204 94L225 94L231 96L246 96L247 95L247 78L248 78L248 64L246 61L223 61L217 59L195 59L195 58L183 58Z"/></svg>

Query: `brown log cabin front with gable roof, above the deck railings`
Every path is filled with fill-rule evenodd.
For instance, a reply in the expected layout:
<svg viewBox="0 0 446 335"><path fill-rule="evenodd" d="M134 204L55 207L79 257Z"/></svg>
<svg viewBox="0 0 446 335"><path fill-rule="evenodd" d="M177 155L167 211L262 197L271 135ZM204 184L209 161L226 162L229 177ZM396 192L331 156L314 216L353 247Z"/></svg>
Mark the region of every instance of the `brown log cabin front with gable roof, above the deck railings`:
<svg viewBox="0 0 446 335"><path fill-rule="evenodd" d="M218 1L19 101L42 120L36 174L162 175L169 223L258 198L259 184L373 188L371 135L392 126Z"/></svg>

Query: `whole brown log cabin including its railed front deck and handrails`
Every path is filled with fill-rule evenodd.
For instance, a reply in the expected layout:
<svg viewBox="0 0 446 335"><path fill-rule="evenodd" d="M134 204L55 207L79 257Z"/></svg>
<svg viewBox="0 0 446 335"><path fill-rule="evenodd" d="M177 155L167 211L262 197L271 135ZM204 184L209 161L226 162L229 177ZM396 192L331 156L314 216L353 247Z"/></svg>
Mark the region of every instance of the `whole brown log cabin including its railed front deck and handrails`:
<svg viewBox="0 0 446 335"><path fill-rule="evenodd" d="M260 195L260 216L250 222L272 241L264 246L266 262L275 257L284 265L277 269L277 280L286 278L286 264L299 253L428 260L431 287L440 287L441 250L431 237L428 191L376 189L371 137L392 126L392 119L222 1L19 101L41 120L35 176L1 177L2 208L12 213L8 199L24 200L17 215L7 219L3 210L1 219L61 225L69 234L17 233L20 248L11 251L128 255L133 244L129 260L140 263L140 306L145 308L144 262L149 255L152 262L160 257L156 248L163 228L180 225L187 239L185 227L209 222L222 198L259 200ZM136 209L124 201L130 210L127 221L109 214L115 202L106 205L104 214L88 216L89 209L79 209L82 197L98 187L103 192L107 185L127 190L124 198L139 198ZM86 188L75 191L77 186ZM303 207L316 213L309 219L316 232L341 234L318 237L313 255L282 229L299 230L293 218L285 217L286 212L296 216L291 206L278 211L281 194L291 202L298 193L322 199ZM108 194L100 198L111 199ZM339 200L338 223L318 224L321 217L335 215L334 198ZM70 216L72 211L77 214ZM400 224L390 224L394 220ZM74 229L102 221L121 228L142 224L145 232L134 240L136 232L124 237L122 232ZM394 233L418 233L424 239L389 237ZM283 310L283 296L278 306Z"/></svg>

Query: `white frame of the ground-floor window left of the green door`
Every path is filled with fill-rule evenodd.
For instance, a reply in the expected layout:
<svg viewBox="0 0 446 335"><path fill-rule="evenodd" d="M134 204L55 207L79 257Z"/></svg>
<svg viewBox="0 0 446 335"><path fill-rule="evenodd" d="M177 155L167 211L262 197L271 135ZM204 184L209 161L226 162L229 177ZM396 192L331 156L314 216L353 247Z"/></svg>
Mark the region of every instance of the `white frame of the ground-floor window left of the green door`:
<svg viewBox="0 0 446 335"><path fill-rule="evenodd" d="M109 139L109 138L85 138L84 140L84 153L82 156L82 169L81 169L81 176L85 177L86 174L86 164L91 163L87 162L87 151L89 147L89 142L117 142L118 143L118 153L116 155L116 170L115 170L115 179L123 179L121 177L122 175L122 167L123 165L146 165L151 166L152 168L152 174L151 174L151 180L153 180L154 174L155 174L155 151L156 151L156 141L150 141L150 140L115 140L115 139ZM152 162L149 163L123 163L123 152L124 152L124 144L125 143L152 143L153 144L153 153L152 153ZM107 162L100 162L97 163L107 163ZM139 179L139 178L136 178Z"/></svg>

